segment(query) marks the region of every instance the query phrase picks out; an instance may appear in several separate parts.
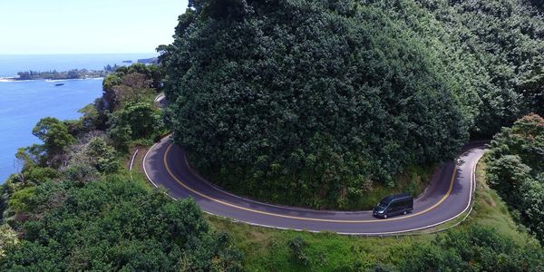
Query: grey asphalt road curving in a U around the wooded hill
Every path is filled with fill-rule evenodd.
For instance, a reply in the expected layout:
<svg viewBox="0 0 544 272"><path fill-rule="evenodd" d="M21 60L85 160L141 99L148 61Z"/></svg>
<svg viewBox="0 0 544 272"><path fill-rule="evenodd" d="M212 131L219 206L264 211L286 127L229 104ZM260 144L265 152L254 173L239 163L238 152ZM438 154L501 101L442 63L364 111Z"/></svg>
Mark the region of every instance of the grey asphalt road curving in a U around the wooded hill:
<svg viewBox="0 0 544 272"><path fill-rule="evenodd" d="M471 206L474 171L484 148L471 143L461 161L445 163L432 177L413 212L390 219L375 219L371 211L323 211L271 205L243 199L213 186L189 168L179 146L170 137L153 145L144 157L143 169L156 187L164 187L174 199L192 197L204 211L252 225L271 228L334 231L353 235L388 235L432 228L460 216Z"/></svg>

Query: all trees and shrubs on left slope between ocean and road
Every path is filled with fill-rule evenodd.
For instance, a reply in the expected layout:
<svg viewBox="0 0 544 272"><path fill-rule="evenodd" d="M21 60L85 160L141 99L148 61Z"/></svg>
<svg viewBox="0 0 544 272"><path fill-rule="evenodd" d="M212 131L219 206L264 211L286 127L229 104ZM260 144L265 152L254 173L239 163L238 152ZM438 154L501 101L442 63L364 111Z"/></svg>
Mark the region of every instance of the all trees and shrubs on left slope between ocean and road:
<svg viewBox="0 0 544 272"><path fill-rule="evenodd" d="M119 67L75 121L44 118L0 187L0 270L229 270L241 254L190 199L174 201L123 167L164 131L158 66Z"/></svg>

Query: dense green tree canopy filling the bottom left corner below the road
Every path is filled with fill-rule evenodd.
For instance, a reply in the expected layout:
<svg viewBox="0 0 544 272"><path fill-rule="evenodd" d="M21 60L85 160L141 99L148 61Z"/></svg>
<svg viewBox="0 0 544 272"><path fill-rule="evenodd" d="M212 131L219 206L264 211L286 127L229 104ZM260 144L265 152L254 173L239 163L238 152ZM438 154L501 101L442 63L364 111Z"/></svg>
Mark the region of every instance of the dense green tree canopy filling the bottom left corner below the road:
<svg viewBox="0 0 544 272"><path fill-rule="evenodd" d="M43 213L18 229L24 240L4 248L0 269L241 270L239 251L209 229L191 199L176 201L120 177L71 183L34 189L33 205L24 209Z"/></svg>

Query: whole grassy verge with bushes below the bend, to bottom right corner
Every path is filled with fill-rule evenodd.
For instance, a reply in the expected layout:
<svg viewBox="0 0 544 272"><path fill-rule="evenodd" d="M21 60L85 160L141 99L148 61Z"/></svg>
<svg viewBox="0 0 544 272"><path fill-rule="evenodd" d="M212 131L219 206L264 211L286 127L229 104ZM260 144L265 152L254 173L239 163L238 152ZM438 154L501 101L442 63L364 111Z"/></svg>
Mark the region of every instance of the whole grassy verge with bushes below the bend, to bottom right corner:
<svg viewBox="0 0 544 272"><path fill-rule="evenodd" d="M544 248L487 180L476 172L471 215L443 232L398 237L347 237L261 228L206 216L228 231L244 253L247 271L539 271ZM436 228L447 228L447 225Z"/></svg>

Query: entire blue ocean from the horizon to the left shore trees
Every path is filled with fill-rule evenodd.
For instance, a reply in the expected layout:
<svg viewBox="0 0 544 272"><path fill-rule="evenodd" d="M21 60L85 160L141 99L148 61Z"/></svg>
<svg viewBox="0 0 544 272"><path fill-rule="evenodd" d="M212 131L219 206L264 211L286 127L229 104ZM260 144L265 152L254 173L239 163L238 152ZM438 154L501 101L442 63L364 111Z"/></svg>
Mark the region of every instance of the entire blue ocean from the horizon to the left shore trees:
<svg viewBox="0 0 544 272"><path fill-rule="evenodd" d="M71 69L102 70L107 64L151 58L156 53L0 55L0 78L22 71L59 72ZM40 143L32 129L40 119L78 119L78 110L102 95L102 79L8 82L0 80L0 183L19 167L15 152ZM19 167L20 168L20 167Z"/></svg>

